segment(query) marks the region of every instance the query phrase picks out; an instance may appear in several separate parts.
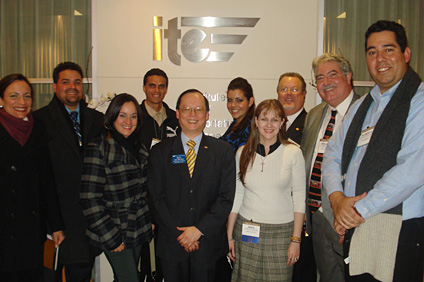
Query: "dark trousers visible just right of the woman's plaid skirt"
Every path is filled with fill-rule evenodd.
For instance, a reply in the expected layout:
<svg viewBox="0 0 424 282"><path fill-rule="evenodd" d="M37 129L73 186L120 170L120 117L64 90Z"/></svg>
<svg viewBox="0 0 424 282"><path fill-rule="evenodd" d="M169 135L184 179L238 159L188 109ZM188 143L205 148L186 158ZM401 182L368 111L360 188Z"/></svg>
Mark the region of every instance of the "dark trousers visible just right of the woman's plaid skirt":
<svg viewBox="0 0 424 282"><path fill-rule="evenodd" d="M300 257L293 267L293 282L316 282L317 266L315 263L312 236L306 236L306 227L303 226L302 242L300 243Z"/></svg>

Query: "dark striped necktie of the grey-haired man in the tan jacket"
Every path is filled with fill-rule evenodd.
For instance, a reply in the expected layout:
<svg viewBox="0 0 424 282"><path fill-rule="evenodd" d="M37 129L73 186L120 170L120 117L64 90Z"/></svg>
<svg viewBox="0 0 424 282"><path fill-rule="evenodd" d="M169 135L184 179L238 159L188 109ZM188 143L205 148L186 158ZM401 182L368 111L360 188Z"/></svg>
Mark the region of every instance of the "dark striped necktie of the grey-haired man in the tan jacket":
<svg viewBox="0 0 424 282"><path fill-rule="evenodd" d="M330 139L333 135L334 124L336 122L336 110L331 111L331 118L328 122L323 139ZM321 163L324 153L318 153L312 168L311 179L309 181L308 206L311 213L315 213L321 207Z"/></svg>

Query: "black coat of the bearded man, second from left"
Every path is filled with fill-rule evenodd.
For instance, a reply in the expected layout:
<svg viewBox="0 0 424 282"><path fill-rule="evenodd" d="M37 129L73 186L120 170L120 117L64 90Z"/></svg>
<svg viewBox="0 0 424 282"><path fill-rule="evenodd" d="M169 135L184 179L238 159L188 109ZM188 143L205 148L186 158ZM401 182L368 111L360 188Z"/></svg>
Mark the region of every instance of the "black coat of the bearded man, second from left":
<svg viewBox="0 0 424 282"><path fill-rule="evenodd" d="M80 205L83 148L103 131L103 114L89 109L80 102L83 146L78 145L77 135L64 105L53 97L45 107L34 112L46 125L52 137L49 144L53 171L57 185L60 208L66 229L66 240L60 246L59 262L62 264L88 263L100 251L90 247L86 237L86 221Z"/></svg>

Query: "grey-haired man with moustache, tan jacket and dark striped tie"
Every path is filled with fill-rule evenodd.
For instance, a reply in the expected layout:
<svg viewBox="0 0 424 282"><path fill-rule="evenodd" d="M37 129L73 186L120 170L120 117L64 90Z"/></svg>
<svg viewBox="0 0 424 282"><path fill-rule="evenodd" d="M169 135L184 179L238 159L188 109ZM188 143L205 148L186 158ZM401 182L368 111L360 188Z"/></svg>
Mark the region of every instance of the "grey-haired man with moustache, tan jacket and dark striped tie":
<svg viewBox="0 0 424 282"><path fill-rule="evenodd" d="M321 185L321 162L328 140L340 127L349 107L359 96L353 92L350 64L342 56L325 53L314 59L312 68L318 93L324 102L309 111L303 130L301 147L308 187L306 230L312 235L321 281L342 282L343 247L332 228L334 217L328 195Z"/></svg>

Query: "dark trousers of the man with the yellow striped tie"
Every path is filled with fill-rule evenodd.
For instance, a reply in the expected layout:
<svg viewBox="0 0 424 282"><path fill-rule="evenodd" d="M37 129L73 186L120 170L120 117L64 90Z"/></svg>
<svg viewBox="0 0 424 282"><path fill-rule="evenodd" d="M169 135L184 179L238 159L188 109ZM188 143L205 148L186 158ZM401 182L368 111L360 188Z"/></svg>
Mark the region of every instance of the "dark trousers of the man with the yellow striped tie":
<svg viewBox="0 0 424 282"><path fill-rule="evenodd" d="M161 259L163 276L166 282L214 282L216 262L206 263L193 259L167 261Z"/></svg>

